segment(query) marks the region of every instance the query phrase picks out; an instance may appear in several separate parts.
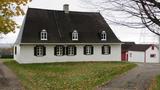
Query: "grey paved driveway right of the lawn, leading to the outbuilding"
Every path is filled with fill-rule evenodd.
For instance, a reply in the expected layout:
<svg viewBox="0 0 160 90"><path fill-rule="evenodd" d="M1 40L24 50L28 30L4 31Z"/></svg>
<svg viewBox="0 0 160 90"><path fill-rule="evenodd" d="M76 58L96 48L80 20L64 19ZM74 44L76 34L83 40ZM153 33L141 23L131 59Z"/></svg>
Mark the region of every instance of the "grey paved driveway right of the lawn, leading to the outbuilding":
<svg viewBox="0 0 160 90"><path fill-rule="evenodd" d="M142 64L110 81L98 90L147 90L151 80L160 74L160 64Z"/></svg>

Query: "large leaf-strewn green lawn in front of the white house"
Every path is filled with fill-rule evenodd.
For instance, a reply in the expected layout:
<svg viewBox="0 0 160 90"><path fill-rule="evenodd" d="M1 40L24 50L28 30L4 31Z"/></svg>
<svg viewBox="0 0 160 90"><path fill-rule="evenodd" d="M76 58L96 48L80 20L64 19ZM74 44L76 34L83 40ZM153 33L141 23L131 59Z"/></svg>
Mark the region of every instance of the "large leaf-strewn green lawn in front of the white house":
<svg viewBox="0 0 160 90"><path fill-rule="evenodd" d="M92 90L136 66L124 62L4 63L17 74L26 90Z"/></svg>

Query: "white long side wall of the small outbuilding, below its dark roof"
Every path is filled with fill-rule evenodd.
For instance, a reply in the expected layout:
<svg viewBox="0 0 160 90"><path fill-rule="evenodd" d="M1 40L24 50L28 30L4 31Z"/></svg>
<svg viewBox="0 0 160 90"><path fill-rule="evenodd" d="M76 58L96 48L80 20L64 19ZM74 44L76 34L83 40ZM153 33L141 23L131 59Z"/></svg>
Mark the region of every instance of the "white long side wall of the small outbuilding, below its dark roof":
<svg viewBox="0 0 160 90"><path fill-rule="evenodd" d="M144 62L145 53L142 51L128 51L129 62Z"/></svg>

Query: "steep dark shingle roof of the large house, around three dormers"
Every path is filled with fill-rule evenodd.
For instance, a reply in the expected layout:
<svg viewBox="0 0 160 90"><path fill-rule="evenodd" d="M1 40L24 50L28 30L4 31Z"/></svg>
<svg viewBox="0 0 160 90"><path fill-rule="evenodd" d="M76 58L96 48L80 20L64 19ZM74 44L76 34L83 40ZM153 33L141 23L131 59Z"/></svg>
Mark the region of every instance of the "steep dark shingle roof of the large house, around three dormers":
<svg viewBox="0 0 160 90"><path fill-rule="evenodd" d="M40 40L42 29L47 30L48 40ZM73 30L79 40L72 41ZM100 32L105 30L107 41L101 41ZM19 35L21 36L21 35ZM20 38L20 37L19 37ZM29 8L19 43L121 43L100 13L69 12Z"/></svg>

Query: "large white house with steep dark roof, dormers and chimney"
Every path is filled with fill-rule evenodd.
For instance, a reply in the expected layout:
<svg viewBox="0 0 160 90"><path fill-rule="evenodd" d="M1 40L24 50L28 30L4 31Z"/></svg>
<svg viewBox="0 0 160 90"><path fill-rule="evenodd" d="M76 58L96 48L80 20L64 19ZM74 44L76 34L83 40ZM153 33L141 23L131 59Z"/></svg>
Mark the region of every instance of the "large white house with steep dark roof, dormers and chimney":
<svg viewBox="0 0 160 90"><path fill-rule="evenodd" d="M19 63L121 61L121 41L98 12L29 8L14 46Z"/></svg>

